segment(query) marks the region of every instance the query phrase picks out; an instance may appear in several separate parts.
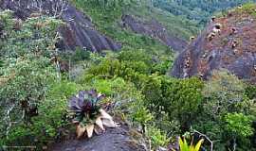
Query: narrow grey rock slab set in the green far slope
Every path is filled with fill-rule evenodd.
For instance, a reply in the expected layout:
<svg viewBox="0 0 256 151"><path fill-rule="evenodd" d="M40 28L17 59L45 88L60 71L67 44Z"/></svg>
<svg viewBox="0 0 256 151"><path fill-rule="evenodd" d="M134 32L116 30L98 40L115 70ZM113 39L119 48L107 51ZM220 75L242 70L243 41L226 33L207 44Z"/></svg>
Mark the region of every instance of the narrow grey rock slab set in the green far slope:
<svg viewBox="0 0 256 151"><path fill-rule="evenodd" d="M159 40L176 51L183 50L188 44L186 41L174 37L163 25L155 20L152 20L151 22L141 22L131 15L123 15L122 25L126 28L130 28L136 33Z"/></svg>

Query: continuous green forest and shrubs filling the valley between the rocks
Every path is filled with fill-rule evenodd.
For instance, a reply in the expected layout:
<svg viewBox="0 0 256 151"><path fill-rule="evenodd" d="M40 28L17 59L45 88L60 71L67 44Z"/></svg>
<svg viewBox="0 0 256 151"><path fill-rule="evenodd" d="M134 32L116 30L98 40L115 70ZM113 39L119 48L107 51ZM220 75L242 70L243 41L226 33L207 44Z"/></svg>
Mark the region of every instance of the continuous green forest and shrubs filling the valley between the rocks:
<svg viewBox="0 0 256 151"><path fill-rule="evenodd" d="M61 21L46 16L19 21L10 11L0 12L0 144L40 148L67 138L74 130L67 100L93 88L106 94L112 113L139 129L153 149L184 135L188 141L203 136L208 150L211 144L218 151L255 150L256 87L228 71L215 71L209 81L166 76L172 51L116 25L133 4L125 2L73 1L123 48L102 54L78 49L71 57L55 47ZM66 59L72 69L62 72L60 61Z"/></svg>

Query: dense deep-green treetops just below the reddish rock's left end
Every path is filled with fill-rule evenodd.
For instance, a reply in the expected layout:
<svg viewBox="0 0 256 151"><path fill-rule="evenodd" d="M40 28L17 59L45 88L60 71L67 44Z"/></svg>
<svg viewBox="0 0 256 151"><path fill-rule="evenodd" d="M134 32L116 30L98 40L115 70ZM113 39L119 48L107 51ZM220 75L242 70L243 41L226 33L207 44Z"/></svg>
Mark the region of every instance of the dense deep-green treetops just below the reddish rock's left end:
<svg viewBox="0 0 256 151"><path fill-rule="evenodd" d="M150 76L142 92L149 109L159 115L161 111L166 112L170 120L178 120L186 130L202 102L202 88L203 83L195 77L178 80Z"/></svg>

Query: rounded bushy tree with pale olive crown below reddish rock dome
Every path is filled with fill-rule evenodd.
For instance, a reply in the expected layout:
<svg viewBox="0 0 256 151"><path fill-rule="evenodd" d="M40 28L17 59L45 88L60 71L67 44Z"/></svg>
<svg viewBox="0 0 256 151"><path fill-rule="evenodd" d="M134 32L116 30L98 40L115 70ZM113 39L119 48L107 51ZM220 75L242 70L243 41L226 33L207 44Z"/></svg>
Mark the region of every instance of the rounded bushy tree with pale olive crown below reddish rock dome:
<svg viewBox="0 0 256 151"><path fill-rule="evenodd" d="M198 122L193 128L206 134L211 140L221 140L222 142L214 145L217 150L223 150L225 145L231 145L229 142L233 140L233 135L230 135L230 132L235 130L237 135L240 135L241 142L237 148L245 146L243 143L247 142L247 135L241 134L244 130L250 129L248 115L252 114L253 102L245 95L245 88L246 85L238 77L227 71L214 71L205 84L205 101L200 108ZM237 119L234 120L235 118ZM247 122L244 121L245 124L242 124L242 119Z"/></svg>

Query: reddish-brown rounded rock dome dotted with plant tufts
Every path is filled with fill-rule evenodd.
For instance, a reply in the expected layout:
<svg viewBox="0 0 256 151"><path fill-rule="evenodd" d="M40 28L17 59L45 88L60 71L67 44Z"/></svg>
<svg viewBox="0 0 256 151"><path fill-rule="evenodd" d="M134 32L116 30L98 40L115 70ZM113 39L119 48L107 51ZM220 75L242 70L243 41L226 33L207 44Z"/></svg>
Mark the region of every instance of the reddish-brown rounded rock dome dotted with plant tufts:
<svg viewBox="0 0 256 151"><path fill-rule="evenodd" d="M180 53L171 75L207 78L214 69L256 83L256 18L238 9L215 19Z"/></svg>

